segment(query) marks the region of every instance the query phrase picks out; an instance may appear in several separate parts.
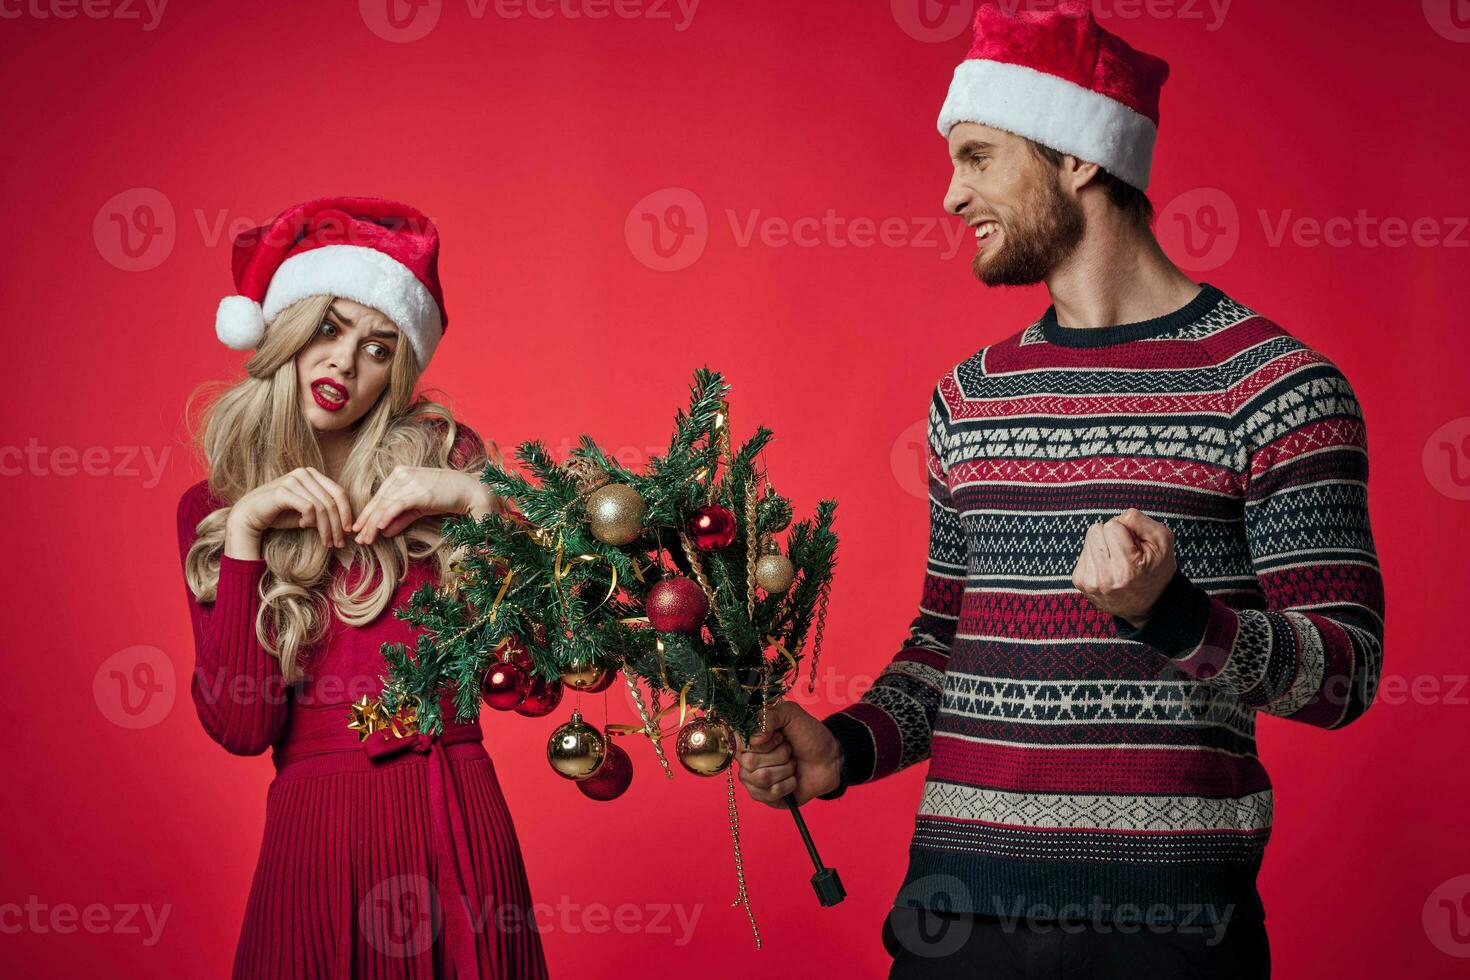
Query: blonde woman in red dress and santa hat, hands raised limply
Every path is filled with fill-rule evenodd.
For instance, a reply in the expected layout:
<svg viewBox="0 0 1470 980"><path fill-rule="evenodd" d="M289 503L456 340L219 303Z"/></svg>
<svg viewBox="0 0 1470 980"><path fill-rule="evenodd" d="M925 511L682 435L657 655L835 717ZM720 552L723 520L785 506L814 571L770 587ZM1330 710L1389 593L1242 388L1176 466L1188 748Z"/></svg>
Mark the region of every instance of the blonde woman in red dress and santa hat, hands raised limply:
<svg viewBox="0 0 1470 980"><path fill-rule="evenodd" d="M516 832L478 721L360 741L392 610L447 580L445 514L484 516L485 445L413 385L444 332L438 234L372 198L235 239L216 332L257 347L210 407L178 508L212 739L272 749L235 977L544 977ZM269 320L269 329L266 322Z"/></svg>

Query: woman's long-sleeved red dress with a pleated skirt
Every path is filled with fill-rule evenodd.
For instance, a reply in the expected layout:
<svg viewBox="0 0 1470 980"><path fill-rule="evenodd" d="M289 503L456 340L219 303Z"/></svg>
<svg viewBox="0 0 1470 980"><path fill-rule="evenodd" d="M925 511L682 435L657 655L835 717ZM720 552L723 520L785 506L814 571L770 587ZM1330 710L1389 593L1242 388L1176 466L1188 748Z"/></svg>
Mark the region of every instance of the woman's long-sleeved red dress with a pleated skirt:
<svg viewBox="0 0 1470 980"><path fill-rule="evenodd" d="M178 508L181 557L222 507L207 482ZM520 845L479 723L360 742L348 705L382 691L384 642L412 644L392 610L435 569L416 563L378 619L332 624L290 689L256 639L263 558L220 557L194 624L191 692L226 751L272 749L276 774L234 977L545 977ZM453 718L453 708L445 710Z"/></svg>

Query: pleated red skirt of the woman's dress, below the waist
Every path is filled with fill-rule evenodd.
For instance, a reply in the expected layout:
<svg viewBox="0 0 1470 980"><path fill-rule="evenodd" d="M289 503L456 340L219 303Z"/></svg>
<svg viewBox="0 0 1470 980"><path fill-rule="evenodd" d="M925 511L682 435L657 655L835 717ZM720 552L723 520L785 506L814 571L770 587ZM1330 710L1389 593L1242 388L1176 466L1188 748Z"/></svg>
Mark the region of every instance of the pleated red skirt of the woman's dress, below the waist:
<svg viewBox="0 0 1470 980"><path fill-rule="evenodd" d="M545 977L479 726L373 757L345 724L341 705L297 711L276 751L232 976Z"/></svg>

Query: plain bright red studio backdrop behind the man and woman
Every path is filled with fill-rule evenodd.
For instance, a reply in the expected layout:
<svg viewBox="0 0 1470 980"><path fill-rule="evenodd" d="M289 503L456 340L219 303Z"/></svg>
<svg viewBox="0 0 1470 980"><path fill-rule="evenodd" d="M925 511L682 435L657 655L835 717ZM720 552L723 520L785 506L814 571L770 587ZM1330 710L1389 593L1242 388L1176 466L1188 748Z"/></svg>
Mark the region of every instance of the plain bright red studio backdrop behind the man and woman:
<svg viewBox="0 0 1470 980"><path fill-rule="evenodd" d="M736 436L776 429L767 461L798 510L841 501L823 710L864 689L913 616L928 520L916 425L935 379L1045 309L1039 287L975 282L967 237L951 254L933 120L967 40L935 40L944 24L926 32L914 3L706 0L676 29L664 4L672 19L569 16L589 10L576 0L537 7L551 18L476 18L445 0L426 37L397 43L369 28L391 34L384 1L176 1L153 29L132 4L0 4L13 541L0 905L169 908L153 945L147 927L62 932L0 908L7 973L229 967L272 770L226 755L194 718L173 513L203 476L184 400L241 373L212 326L232 292L232 223L322 194L428 212L451 325L425 382L503 447L564 448L585 430L638 461L666 439L689 372L723 370ZM1223 19L1194 0L1098 7L1173 65L1151 188L1170 254L1326 351L1369 419L1394 688L1347 730L1261 721L1277 789L1261 889L1283 977L1470 965L1470 31L1449 1L1239 0ZM678 270L650 267L635 209L662 191L644 210L664 231L698 229L697 207L669 210L689 194L667 188L706 212L707 245ZM836 231L804 245L770 223L741 241L753 219L829 209ZM1388 217L1427 223L1396 245L1348 228ZM860 244L854 219L894 219L889 241ZM1344 235L1314 242L1310 222L1329 219ZM129 239L119 220L137 222ZM25 447L26 461L9 451ZM162 461L157 476L137 453ZM150 655L157 721L125 727L104 661ZM631 717L623 698L610 707ZM923 765L808 808L851 895L835 909L816 907L789 818L741 796L757 952L729 908L723 780L666 783L650 748L628 745L632 790L592 804L545 765L559 716L487 720L534 895L572 908L545 934L554 976L886 970L879 926ZM1457 923L1441 898L1460 902ZM676 923L573 933L595 927L576 915L598 904L644 923L682 904L698 920L682 945Z"/></svg>

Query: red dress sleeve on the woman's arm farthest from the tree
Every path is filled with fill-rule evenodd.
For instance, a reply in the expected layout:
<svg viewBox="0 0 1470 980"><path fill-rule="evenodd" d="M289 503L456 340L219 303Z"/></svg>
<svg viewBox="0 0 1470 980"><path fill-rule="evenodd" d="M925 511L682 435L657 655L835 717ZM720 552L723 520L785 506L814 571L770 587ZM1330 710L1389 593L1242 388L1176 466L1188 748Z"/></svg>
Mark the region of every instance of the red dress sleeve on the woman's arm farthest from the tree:
<svg viewBox="0 0 1470 980"><path fill-rule="evenodd" d="M223 504L207 483L196 483L179 498L179 561L197 538L198 522ZM201 604L188 583L190 619L194 624L194 674L190 693L209 738L235 755L259 755L281 736L288 695L281 663L256 636L260 613L260 576L265 558L220 555L219 589L213 602Z"/></svg>

